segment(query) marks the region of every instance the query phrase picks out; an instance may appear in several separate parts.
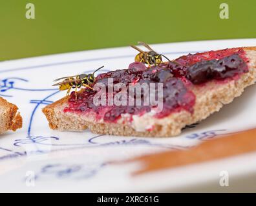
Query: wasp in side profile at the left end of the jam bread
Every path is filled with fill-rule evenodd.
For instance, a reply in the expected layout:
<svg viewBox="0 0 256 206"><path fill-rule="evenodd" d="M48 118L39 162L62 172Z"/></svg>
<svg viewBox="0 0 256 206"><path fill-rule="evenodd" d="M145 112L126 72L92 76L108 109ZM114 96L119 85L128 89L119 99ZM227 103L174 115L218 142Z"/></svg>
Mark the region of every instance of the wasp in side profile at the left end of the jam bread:
<svg viewBox="0 0 256 206"><path fill-rule="evenodd" d="M62 82L58 82L56 84L53 84L52 86L59 86L59 90L67 90L67 95L69 95L71 89L75 89L76 99L77 99L77 89L81 88L81 86L84 86L85 88L92 89L91 85L95 82L94 73L96 71L100 70L104 66L101 66L97 70L95 70L93 73L85 74L82 73L81 75L74 75L70 77L61 77L54 82L57 82L59 80L64 79Z"/></svg>

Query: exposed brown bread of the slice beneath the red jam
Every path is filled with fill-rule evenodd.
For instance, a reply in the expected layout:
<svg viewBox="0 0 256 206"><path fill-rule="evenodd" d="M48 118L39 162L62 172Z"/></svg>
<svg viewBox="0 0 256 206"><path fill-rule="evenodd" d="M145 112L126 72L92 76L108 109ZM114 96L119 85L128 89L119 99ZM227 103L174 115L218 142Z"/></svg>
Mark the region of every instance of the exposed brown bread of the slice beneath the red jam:
<svg viewBox="0 0 256 206"><path fill-rule="evenodd" d="M239 50L240 48L237 48ZM206 117L219 111L224 104L232 102L239 97L244 88L253 84L256 80L256 47L242 48L246 52L249 72L242 73L239 79L229 80L222 84L209 81L204 86L193 84L191 91L195 93L196 102L193 113L181 110L171 113L164 118L154 118L151 113L142 116L133 115L133 121L129 121L125 115L117 123L98 120L96 114L63 112L69 103L69 97L64 97L43 108L49 126L61 131L81 131L89 128L92 133L123 136L175 136L181 133L181 129L189 124L204 120ZM206 53L207 55L208 53ZM149 129L150 128L150 129Z"/></svg>

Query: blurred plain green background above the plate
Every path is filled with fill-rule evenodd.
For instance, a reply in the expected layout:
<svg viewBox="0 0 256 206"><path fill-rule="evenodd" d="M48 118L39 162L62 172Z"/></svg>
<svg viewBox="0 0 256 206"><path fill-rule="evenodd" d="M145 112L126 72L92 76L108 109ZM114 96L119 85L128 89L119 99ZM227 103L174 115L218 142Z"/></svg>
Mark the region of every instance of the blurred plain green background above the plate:
<svg viewBox="0 0 256 206"><path fill-rule="evenodd" d="M0 61L148 43L256 37L255 0L0 0ZM26 19L34 3L36 19ZM220 19L228 3L229 19Z"/></svg>

